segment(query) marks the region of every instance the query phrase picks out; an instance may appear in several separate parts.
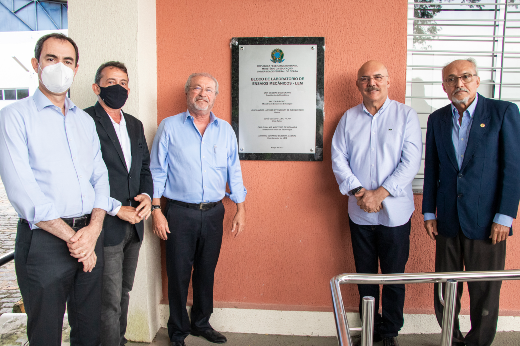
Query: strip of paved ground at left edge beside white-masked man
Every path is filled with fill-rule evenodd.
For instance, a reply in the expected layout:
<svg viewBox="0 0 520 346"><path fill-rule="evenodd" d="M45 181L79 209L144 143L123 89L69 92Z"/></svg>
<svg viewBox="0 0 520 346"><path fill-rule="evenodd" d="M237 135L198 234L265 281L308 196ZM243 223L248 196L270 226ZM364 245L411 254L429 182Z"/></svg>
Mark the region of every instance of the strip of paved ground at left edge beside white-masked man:
<svg viewBox="0 0 520 346"><path fill-rule="evenodd" d="M9 203L0 180L0 256L14 250L17 222L18 216ZM21 298L14 272L14 261L11 261L0 267L0 315L12 312L14 303Z"/></svg>

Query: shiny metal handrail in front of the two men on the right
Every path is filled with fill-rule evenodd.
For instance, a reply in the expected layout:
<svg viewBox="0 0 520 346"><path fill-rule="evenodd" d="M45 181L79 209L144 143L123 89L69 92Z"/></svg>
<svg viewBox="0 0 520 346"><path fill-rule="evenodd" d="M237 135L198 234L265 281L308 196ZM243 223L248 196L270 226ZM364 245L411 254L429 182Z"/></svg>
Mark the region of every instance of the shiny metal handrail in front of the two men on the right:
<svg viewBox="0 0 520 346"><path fill-rule="evenodd" d="M414 284L414 283L447 283L446 301L442 323L441 346L451 345L453 333L453 319L455 316L455 301L457 300L457 282L473 281L500 281L500 280L520 280L520 270L498 270L498 271L464 271L464 272L444 272L444 273L403 273L403 274L341 274L330 280L332 293L332 305L334 308L334 318L338 332L338 342L340 346L352 346L350 332L360 330L360 328L349 328L347 314L343 305L341 295L341 284ZM442 285L439 285L439 290ZM364 297L364 299L371 297ZM441 300L442 301L442 300ZM361 327L363 346L372 346L371 337L373 332L374 308L363 302L363 326ZM367 307L365 307L365 305ZM372 304L373 306L374 304ZM366 309L366 310L365 310ZM365 315L370 315L366 316ZM368 339L368 340L367 340Z"/></svg>

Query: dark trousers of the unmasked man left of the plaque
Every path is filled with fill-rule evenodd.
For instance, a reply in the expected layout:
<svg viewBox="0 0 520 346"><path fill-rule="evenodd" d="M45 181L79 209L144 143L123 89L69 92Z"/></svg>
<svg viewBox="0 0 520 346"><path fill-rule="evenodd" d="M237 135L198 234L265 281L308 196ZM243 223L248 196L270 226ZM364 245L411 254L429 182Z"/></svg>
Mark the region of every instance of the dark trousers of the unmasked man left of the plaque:
<svg viewBox="0 0 520 346"><path fill-rule="evenodd" d="M190 331L210 329L213 313L213 282L222 244L224 221L222 203L207 211L168 203L166 218L170 234L166 240L166 272L171 341L184 340ZM191 326L186 311L188 287L193 268Z"/></svg>

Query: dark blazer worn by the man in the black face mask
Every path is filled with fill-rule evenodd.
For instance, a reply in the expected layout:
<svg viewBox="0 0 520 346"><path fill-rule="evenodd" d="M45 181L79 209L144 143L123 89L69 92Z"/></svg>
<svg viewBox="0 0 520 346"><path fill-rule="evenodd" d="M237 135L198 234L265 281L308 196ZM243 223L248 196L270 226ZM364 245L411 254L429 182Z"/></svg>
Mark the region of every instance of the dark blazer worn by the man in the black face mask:
<svg viewBox="0 0 520 346"><path fill-rule="evenodd" d="M124 113L130 147L132 153L132 165L130 171L126 168L125 157L119 139L117 138L114 125L98 103L85 109L96 123L96 129L101 142L103 160L108 169L108 180L110 182L110 197L117 199L124 206L138 206L134 197L147 193L153 197L152 173L150 172L150 153L144 137L143 124L130 114ZM121 243L125 235L127 222L117 216L105 216L103 229L105 233L104 246L114 246ZM143 240L144 222L135 224L139 240Z"/></svg>

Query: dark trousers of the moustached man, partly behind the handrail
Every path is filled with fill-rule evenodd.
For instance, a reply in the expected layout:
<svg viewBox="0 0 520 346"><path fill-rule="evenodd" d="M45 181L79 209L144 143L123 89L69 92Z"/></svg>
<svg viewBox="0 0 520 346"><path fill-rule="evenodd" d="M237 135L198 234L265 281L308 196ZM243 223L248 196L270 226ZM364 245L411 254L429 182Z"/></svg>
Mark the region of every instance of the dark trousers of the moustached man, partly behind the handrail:
<svg viewBox="0 0 520 346"><path fill-rule="evenodd" d="M378 261L383 274L404 273L410 252L410 220L397 227L358 225L350 218L349 223L357 273L377 274ZM382 337L397 336L404 324L404 285L383 285L382 315L379 285L358 285L358 291L360 315L363 297L374 297L374 331Z"/></svg>

